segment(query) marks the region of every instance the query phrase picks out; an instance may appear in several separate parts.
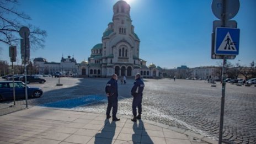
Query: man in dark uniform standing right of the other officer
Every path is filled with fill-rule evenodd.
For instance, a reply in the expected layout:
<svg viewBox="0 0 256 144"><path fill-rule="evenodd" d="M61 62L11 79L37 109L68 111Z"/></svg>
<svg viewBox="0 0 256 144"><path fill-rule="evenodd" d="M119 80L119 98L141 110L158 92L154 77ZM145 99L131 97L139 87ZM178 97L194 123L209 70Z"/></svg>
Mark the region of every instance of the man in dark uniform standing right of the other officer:
<svg viewBox="0 0 256 144"><path fill-rule="evenodd" d="M143 81L141 80L141 74L136 74L135 76L135 82L134 87L131 89L131 95L134 97L132 100L132 114L134 115L134 118L132 118L132 121L137 121L137 119L141 119L141 112L142 112L142 95L143 95L143 89L145 85ZM138 116L137 116L137 108L138 108Z"/></svg>

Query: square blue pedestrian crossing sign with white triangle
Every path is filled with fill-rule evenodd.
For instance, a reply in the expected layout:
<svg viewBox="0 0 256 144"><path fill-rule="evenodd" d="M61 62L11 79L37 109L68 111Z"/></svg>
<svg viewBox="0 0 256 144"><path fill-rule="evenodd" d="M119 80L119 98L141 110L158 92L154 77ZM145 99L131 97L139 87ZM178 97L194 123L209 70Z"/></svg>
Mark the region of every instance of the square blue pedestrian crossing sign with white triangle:
<svg viewBox="0 0 256 144"><path fill-rule="evenodd" d="M239 54L240 29L216 28L215 54L238 55Z"/></svg>

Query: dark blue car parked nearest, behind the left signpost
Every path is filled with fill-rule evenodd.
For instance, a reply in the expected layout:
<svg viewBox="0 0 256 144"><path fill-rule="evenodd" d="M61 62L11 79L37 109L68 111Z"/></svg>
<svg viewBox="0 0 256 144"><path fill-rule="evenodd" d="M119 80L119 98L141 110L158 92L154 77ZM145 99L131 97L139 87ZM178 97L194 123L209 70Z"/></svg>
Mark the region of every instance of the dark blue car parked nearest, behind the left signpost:
<svg viewBox="0 0 256 144"><path fill-rule="evenodd" d="M25 98L25 83L20 81L14 82L15 86L15 98ZM31 88L27 86L28 98L39 98L42 95L41 88ZM12 81L0 81L0 100L12 100L13 99L13 82Z"/></svg>

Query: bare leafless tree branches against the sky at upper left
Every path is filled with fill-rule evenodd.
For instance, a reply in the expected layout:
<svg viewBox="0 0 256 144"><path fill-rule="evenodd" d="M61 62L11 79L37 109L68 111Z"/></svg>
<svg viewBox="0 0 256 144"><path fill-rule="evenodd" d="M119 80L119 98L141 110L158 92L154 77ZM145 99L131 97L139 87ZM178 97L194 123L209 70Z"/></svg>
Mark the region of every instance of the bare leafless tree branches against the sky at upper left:
<svg viewBox="0 0 256 144"><path fill-rule="evenodd" d="M33 49L44 47L46 31L28 24L31 18L23 12L18 12L17 6L18 0L0 1L0 42L9 46L18 45L21 39L19 29L27 26L30 29L30 47Z"/></svg>

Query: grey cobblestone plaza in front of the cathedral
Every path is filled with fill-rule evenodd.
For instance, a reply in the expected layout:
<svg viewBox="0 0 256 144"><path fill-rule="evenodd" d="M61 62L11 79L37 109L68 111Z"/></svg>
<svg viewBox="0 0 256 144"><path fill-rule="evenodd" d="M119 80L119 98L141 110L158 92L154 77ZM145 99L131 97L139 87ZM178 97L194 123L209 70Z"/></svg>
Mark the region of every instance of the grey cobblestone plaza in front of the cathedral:
<svg viewBox="0 0 256 144"><path fill-rule="evenodd" d="M29 99L29 105L42 105L61 102L70 105L67 99L97 95L103 97L97 102L76 105L77 111L96 111L105 113L106 98L104 87L108 79L61 78L63 87L56 87L57 78L47 78L40 86L44 95ZM204 81L172 79L144 79L142 118L161 124L190 130L200 135L218 140L218 127L221 105L221 84L211 87ZM119 84L118 115L130 115L132 97L130 89L133 79L127 84ZM77 101L75 101L77 102ZM5 102L7 103L7 102ZM18 104L25 104L19 100ZM256 143L256 87L238 87L227 83L225 119L223 128L224 143ZM65 106L64 106L65 107Z"/></svg>

